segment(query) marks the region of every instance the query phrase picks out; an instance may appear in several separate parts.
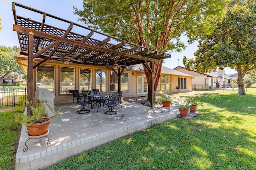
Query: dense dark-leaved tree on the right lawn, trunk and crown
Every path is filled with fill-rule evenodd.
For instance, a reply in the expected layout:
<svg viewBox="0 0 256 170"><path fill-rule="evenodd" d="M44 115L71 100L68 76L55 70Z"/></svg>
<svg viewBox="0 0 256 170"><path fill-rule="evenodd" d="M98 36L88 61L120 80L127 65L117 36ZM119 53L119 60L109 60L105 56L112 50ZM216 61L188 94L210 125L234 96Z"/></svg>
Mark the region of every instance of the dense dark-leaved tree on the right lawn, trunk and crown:
<svg viewBox="0 0 256 170"><path fill-rule="evenodd" d="M187 69L200 73L217 67L237 70L238 95L246 95L245 74L256 68L256 1L234 0L226 8L224 19L216 29L200 36L195 59L183 58Z"/></svg>

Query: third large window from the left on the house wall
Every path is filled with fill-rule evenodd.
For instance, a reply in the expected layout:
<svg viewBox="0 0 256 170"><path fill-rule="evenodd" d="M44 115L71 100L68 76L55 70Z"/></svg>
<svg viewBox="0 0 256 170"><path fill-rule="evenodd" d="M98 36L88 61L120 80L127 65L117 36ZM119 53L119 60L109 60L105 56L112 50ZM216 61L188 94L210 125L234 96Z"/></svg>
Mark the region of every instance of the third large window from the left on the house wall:
<svg viewBox="0 0 256 170"><path fill-rule="evenodd" d="M92 70L80 68L79 90L92 90Z"/></svg>

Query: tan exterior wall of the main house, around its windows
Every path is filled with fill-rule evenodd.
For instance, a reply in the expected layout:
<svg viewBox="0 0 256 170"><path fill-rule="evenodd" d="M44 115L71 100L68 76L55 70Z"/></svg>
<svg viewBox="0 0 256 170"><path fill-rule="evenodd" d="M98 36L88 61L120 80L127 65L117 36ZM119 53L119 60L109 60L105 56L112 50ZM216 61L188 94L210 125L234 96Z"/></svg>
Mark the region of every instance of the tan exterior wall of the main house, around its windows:
<svg viewBox="0 0 256 170"><path fill-rule="evenodd" d="M21 61L22 63L26 63L24 61ZM37 64L38 61L34 61L34 65ZM113 93L110 92L110 71L112 71L111 68L108 67L102 67L102 66L91 66L91 65L81 65L81 64L75 64L75 63L70 63L69 65L65 65L62 62L54 62L54 61L46 61L41 65L46 65L46 66L54 66L54 103L55 104L60 104L60 103L70 103L73 102L73 95L72 94L60 94L60 67L70 67L74 68L75 70L75 85L74 85L74 90L79 89L79 71L80 68L86 68L86 69L91 69L92 70L92 89L96 89L96 70L106 70L106 94ZM23 69L27 69L25 65L22 67ZM36 88L36 69L34 71L34 76L33 76L33 89L35 90ZM124 97L132 97L132 96L138 96L137 95L137 77L138 76L143 76L144 72L143 71L136 71L136 70L128 70L125 69L124 72L128 72L128 91L123 91L122 96ZM134 74L132 74L134 73ZM186 89L181 89L181 92L190 92L192 91L191 88L191 78L192 77L186 77L186 76L176 76L172 74L161 74L165 76L170 76L170 90L164 90L164 93L168 92L176 92L176 86L178 86L178 78L183 77L186 78ZM158 94L161 90L157 90L156 94ZM145 94L143 94L145 96Z"/></svg>

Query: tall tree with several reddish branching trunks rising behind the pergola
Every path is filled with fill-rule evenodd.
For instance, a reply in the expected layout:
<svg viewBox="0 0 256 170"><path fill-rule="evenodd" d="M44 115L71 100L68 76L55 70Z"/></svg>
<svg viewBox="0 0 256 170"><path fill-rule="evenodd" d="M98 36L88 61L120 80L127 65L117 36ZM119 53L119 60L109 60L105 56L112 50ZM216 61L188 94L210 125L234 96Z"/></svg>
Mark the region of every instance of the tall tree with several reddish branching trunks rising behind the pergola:
<svg viewBox="0 0 256 170"><path fill-rule="evenodd" d="M83 9L74 7L74 13L89 27L142 47L168 52L185 48L180 41L182 33L192 37L214 28L207 21L218 20L224 5L224 0L84 0ZM162 62L153 63L154 92ZM144 71L150 98L150 72L145 67Z"/></svg>

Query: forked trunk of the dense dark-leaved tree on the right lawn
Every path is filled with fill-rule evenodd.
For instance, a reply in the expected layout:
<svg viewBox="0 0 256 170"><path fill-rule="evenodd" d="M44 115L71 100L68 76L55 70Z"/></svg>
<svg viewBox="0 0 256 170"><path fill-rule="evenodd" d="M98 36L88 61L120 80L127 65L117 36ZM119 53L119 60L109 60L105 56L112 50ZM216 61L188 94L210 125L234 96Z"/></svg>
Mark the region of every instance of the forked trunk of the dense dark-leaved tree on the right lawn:
<svg viewBox="0 0 256 170"><path fill-rule="evenodd" d="M244 76L249 69L247 66L245 66L244 69L242 70L240 64L238 64L236 68L237 68L237 86L238 86L237 95L246 95L246 92L244 90Z"/></svg>

